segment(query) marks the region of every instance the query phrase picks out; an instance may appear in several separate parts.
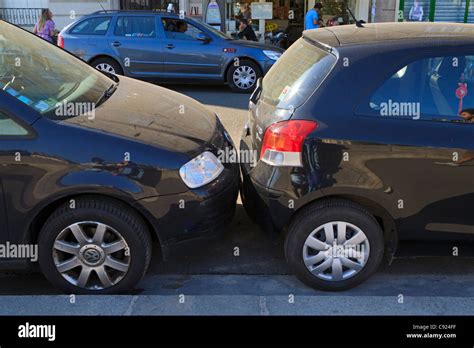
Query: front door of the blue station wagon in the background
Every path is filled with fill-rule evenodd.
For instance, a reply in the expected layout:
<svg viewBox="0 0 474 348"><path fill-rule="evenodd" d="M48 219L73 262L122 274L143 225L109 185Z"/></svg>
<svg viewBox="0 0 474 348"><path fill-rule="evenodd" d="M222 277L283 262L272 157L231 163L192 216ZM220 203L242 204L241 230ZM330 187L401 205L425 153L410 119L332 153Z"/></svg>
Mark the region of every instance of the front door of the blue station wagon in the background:
<svg viewBox="0 0 474 348"><path fill-rule="evenodd" d="M160 24L166 78L222 79L220 40L186 19L162 17Z"/></svg>

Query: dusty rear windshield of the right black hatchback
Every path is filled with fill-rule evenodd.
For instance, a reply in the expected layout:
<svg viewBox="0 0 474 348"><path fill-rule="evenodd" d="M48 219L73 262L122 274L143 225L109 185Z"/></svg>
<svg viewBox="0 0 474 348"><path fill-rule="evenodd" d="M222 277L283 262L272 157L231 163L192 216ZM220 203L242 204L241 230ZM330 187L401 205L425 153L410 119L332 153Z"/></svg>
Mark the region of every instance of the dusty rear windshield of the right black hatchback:
<svg viewBox="0 0 474 348"><path fill-rule="evenodd" d="M319 87L336 60L328 51L299 39L265 75L261 99L279 108L297 108Z"/></svg>

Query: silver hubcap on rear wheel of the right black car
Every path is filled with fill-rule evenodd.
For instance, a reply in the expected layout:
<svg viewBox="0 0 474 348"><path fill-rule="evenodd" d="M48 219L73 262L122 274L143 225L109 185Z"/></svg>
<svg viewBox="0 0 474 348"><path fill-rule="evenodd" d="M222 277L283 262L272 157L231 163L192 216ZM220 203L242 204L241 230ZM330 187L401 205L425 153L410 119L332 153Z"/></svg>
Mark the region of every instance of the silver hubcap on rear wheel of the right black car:
<svg viewBox="0 0 474 348"><path fill-rule="evenodd" d="M303 246L306 268L327 281L346 280L367 263L370 243L365 233L343 221L328 222L313 230Z"/></svg>

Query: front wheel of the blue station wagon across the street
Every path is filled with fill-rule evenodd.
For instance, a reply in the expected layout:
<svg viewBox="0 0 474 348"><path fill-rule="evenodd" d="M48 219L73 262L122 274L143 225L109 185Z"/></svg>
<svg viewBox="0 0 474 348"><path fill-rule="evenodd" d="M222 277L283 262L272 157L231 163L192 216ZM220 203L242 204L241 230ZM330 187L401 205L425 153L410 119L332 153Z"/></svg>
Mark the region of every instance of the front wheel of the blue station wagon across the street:
<svg viewBox="0 0 474 348"><path fill-rule="evenodd" d="M258 65L245 59L240 60L238 66L232 63L227 71L229 87L239 93L253 92L260 77L262 73Z"/></svg>

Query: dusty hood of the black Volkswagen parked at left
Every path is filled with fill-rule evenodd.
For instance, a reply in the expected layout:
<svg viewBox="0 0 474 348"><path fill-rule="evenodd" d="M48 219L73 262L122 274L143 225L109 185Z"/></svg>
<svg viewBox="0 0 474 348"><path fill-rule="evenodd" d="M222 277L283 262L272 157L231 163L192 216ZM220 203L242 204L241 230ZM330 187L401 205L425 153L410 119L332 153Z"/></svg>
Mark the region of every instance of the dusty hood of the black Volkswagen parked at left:
<svg viewBox="0 0 474 348"><path fill-rule="evenodd" d="M94 115L64 122L130 138L173 152L200 154L224 142L217 116L183 94L120 77L113 95Z"/></svg>

